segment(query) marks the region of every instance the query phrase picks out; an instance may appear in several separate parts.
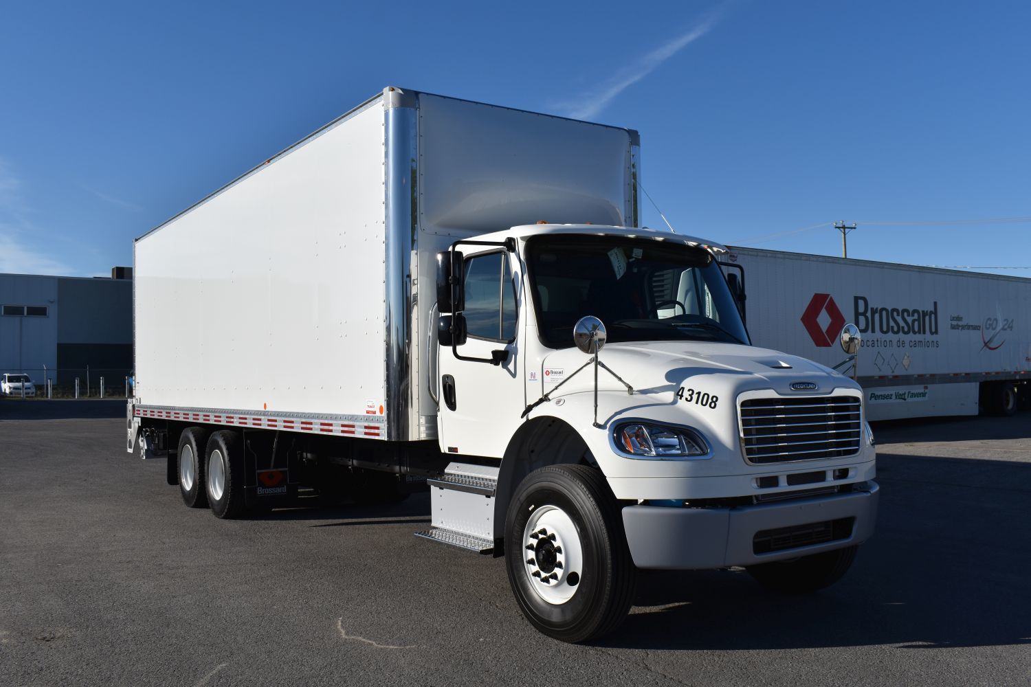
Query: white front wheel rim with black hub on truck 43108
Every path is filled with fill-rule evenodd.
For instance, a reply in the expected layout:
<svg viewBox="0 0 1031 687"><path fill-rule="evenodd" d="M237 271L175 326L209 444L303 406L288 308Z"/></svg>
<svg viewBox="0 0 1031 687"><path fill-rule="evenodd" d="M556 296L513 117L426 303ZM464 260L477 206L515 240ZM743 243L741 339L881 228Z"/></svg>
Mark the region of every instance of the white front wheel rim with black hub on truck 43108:
<svg viewBox="0 0 1031 687"><path fill-rule="evenodd" d="M523 529L524 569L530 587L544 602L560 606L579 588L584 547L572 518L557 506L541 506Z"/></svg>

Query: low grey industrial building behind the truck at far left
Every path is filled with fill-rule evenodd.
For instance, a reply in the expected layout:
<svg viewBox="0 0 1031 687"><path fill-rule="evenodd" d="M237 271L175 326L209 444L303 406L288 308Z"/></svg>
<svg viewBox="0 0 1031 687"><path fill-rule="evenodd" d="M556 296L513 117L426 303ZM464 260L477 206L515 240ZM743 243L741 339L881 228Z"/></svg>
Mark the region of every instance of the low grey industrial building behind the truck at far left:
<svg viewBox="0 0 1031 687"><path fill-rule="evenodd" d="M122 390L132 369L132 268L108 277L0 274L0 373Z"/></svg>

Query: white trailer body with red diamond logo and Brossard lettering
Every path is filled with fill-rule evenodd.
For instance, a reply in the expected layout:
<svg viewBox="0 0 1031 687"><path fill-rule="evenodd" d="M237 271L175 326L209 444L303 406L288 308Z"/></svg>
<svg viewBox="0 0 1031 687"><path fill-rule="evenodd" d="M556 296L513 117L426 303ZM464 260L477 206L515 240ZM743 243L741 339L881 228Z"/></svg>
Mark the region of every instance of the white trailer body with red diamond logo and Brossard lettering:
<svg viewBox="0 0 1031 687"><path fill-rule="evenodd" d="M754 343L825 365L855 322L867 419L1012 415L1031 391L1031 279L733 247Z"/></svg>

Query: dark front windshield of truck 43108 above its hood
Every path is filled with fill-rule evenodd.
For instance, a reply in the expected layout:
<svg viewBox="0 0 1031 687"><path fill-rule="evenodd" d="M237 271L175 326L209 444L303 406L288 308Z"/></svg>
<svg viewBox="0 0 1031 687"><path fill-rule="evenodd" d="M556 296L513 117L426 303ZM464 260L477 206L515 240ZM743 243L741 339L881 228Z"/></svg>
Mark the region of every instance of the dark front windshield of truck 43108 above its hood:
<svg viewBox="0 0 1031 687"><path fill-rule="evenodd" d="M749 343L711 253L679 243L616 236L536 236L527 242L529 283L541 340L573 345L585 315L608 341Z"/></svg>

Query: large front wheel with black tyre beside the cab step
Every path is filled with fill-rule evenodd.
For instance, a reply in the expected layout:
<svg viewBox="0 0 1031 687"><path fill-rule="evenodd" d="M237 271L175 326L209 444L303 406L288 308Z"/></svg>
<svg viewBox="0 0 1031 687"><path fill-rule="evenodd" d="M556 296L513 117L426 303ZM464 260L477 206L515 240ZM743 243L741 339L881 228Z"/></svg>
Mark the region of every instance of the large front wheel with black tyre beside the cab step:
<svg viewBox="0 0 1031 687"><path fill-rule="evenodd" d="M508 581L531 624L564 642L586 642L623 621L637 571L600 471L558 465L530 473L505 521Z"/></svg>

